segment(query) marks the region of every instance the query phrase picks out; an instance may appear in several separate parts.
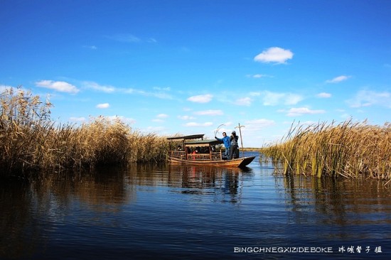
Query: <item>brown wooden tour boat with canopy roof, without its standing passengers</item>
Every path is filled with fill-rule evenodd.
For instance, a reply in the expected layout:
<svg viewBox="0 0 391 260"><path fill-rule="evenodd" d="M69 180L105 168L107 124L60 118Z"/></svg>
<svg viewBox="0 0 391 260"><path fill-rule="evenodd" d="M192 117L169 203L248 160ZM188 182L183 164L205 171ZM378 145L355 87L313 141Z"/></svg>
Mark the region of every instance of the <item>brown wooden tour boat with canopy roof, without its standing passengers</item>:
<svg viewBox="0 0 391 260"><path fill-rule="evenodd" d="M222 151L215 151L215 146L221 142L203 140L204 134L193 134L191 136L169 137L170 148L174 147L171 141L178 143L175 150L168 152L168 161L173 164L186 164L195 166L223 166L223 167L245 167L249 165L255 156L223 158Z"/></svg>

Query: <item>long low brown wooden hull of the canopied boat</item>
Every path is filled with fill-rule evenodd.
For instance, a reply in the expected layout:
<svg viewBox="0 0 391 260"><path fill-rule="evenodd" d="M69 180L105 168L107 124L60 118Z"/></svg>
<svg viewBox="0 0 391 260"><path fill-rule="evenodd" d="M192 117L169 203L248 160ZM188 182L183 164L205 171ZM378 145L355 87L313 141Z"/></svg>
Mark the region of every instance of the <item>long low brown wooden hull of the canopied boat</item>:
<svg viewBox="0 0 391 260"><path fill-rule="evenodd" d="M183 158L169 157L168 161L173 164L183 164L192 166L221 166L221 167L245 167L249 165L255 156L236 158L232 160L214 160L214 161L198 161L198 160L186 160Z"/></svg>

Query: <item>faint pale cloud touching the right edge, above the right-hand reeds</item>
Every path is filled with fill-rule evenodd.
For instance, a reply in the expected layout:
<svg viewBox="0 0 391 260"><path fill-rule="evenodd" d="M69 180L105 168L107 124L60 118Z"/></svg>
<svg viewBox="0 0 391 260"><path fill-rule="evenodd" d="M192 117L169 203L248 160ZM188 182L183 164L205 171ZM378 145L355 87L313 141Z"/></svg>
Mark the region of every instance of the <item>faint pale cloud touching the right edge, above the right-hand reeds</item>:
<svg viewBox="0 0 391 260"><path fill-rule="evenodd" d="M360 90L355 97L347 100L350 107L370 107L378 105L391 108L390 92L375 92L372 90Z"/></svg>

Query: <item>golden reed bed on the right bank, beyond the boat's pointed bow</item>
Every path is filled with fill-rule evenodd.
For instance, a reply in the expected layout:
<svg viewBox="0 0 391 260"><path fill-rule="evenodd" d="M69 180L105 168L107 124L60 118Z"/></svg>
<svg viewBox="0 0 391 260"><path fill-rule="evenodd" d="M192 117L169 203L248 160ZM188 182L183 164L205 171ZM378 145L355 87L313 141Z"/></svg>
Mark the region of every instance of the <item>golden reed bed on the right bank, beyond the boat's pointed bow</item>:
<svg viewBox="0 0 391 260"><path fill-rule="evenodd" d="M348 120L292 126L281 143L262 148L261 153L282 163L285 174L391 180L391 124Z"/></svg>

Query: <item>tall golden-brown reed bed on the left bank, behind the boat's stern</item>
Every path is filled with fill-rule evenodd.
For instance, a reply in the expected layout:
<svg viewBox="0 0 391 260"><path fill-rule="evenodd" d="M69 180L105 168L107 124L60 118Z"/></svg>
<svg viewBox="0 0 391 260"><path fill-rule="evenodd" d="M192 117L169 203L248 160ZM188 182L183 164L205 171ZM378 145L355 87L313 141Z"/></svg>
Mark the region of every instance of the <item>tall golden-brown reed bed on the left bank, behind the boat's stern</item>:
<svg viewBox="0 0 391 260"><path fill-rule="evenodd" d="M0 105L0 177L165 160L166 138L133 131L119 119L56 124L52 104L20 88L2 91Z"/></svg>

